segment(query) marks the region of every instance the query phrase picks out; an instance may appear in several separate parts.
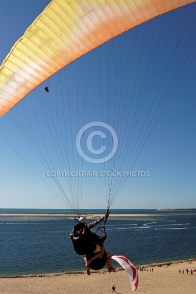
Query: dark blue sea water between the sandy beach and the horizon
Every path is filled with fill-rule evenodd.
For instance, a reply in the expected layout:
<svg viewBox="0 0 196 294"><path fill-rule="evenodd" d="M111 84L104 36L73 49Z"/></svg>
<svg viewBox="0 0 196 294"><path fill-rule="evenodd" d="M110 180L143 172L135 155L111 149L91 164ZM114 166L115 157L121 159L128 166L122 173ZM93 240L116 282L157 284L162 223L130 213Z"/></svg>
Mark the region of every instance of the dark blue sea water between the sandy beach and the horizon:
<svg viewBox="0 0 196 294"><path fill-rule="evenodd" d="M83 212L104 214L104 210L95 209ZM69 210L0 209L0 214L65 213ZM147 216L112 217L133 213ZM0 276L86 270L83 256L74 252L69 240L76 221L68 217L50 220L45 216L30 220L16 216L3 221L0 217ZM105 250L112 255L122 254L135 265L196 258L196 210L114 209L106 232Z"/></svg>

